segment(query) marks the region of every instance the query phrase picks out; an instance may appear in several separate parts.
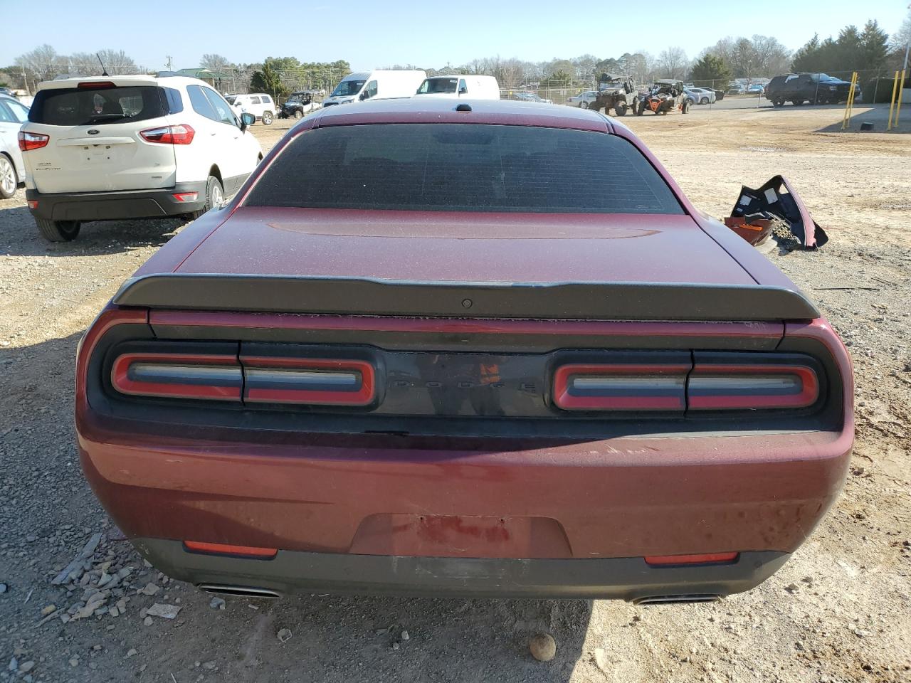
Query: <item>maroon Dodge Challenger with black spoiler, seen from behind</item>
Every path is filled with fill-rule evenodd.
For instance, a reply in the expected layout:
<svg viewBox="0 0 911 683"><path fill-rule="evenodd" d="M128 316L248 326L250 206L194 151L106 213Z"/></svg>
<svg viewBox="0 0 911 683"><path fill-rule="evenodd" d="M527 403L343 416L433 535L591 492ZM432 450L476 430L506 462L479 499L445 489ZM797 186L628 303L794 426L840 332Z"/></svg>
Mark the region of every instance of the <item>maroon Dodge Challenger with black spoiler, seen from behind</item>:
<svg viewBox="0 0 911 683"><path fill-rule="evenodd" d="M78 352L82 467L203 589L717 599L833 504L844 345L629 129L332 107Z"/></svg>

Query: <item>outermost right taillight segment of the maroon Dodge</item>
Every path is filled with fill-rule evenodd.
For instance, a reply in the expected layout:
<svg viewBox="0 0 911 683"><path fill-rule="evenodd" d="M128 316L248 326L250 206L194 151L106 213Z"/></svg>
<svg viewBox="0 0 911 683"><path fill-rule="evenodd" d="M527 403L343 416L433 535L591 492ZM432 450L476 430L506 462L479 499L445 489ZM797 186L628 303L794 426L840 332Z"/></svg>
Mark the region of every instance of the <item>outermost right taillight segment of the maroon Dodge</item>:
<svg viewBox="0 0 911 683"><path fill-rule="evenodd" d="M819 398L819 378L803 365L697 363L687 398L690 410L805 408Z"/></svg>

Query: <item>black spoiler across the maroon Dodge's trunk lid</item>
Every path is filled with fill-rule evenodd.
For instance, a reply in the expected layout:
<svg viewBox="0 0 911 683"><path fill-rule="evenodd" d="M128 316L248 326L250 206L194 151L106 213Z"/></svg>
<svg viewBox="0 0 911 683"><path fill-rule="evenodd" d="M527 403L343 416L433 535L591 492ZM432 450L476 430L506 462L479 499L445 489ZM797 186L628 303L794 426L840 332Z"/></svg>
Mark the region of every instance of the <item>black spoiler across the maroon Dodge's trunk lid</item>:
<svg viewBox="0 0 911 683"><path fill-rule="evenodd" d="M796 321L820 313L802 292L767 285L666 282L418 282L262 275L151 274L119 306L445 318Z"/></svg>

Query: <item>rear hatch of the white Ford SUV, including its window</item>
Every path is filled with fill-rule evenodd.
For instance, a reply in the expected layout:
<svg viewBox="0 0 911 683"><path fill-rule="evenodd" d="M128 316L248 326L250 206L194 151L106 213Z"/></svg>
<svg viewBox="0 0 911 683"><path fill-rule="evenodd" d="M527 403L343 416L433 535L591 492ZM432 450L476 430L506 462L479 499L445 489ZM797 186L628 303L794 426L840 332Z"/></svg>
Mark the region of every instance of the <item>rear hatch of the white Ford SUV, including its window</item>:
<svg viewBox="0 0 911 683"><path fill-rule="evenodd" d="M172 88L135 81L67 82L38 91L24 130L47 144L24 155L39 192L97 192L174 187L171 144L150 142L140 131L169 125L180 111Z"/></svg>

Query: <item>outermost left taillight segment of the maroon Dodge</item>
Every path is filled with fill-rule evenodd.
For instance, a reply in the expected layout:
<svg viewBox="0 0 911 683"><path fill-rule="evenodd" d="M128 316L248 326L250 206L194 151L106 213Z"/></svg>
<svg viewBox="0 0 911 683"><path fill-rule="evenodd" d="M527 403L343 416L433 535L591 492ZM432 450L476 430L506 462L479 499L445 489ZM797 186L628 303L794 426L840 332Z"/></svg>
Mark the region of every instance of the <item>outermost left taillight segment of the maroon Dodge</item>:
<svg viewBox="0 0 911 683"><path fill-rule="evenodd" d="M240 401L243 371L236 356L124 353L111 368L111 384L134 396Z"/></svg>

